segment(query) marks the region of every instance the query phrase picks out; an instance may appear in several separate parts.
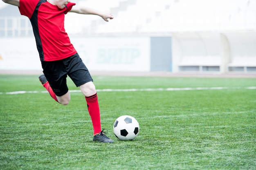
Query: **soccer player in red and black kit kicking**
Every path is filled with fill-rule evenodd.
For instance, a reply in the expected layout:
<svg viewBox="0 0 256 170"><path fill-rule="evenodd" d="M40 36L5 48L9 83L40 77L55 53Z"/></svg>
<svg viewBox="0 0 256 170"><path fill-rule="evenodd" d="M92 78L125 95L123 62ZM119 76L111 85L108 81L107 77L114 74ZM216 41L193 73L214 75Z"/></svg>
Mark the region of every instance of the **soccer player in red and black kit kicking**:
<svg viewBox="0 0 256 170"><path fill-rule="evenodd" d="M99 103L93 79L64 29L64 17L68 12L99 15L106 22L114 18L112 14L77 6L70 0L2 1L17 6L20 14L31 21L44 73L39 76L39 80L52 98L60 104L69 104L70 92L66 83L68 75L85 96L94 129L92 140L113 143L101 130Z"/></svg>

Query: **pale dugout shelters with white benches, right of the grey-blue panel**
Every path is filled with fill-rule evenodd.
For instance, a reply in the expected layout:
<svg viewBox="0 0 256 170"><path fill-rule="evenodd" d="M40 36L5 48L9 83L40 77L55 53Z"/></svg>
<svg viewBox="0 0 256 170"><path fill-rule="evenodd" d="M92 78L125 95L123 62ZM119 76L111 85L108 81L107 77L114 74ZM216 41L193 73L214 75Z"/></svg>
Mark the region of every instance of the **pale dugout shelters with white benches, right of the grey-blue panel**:
<svg viewBox="0 0 256 170"><path fill-rule="evenodd" d="M173 72L256 71L256 32L173 33L172 40Z"/></svg>

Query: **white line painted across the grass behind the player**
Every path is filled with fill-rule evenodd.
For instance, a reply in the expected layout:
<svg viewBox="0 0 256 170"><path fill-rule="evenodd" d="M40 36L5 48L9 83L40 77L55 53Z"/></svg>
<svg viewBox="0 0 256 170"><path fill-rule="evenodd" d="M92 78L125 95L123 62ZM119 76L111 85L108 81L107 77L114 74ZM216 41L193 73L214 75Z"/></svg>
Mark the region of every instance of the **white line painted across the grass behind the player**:
<svg viewBox="0 0 256 170"><path fill-rule="evenodd" d="M246 89L254 90L256 86L252 87L186 87L186 88L130 88L130 89L98 89L97 92L129 92L129 91L197 91L197 90L236 90ZM79 93L80 90L70 90L70 93ZM47 91L13 91L0 92L0 95L16 95L25 93L48 93Z"/></svg>

